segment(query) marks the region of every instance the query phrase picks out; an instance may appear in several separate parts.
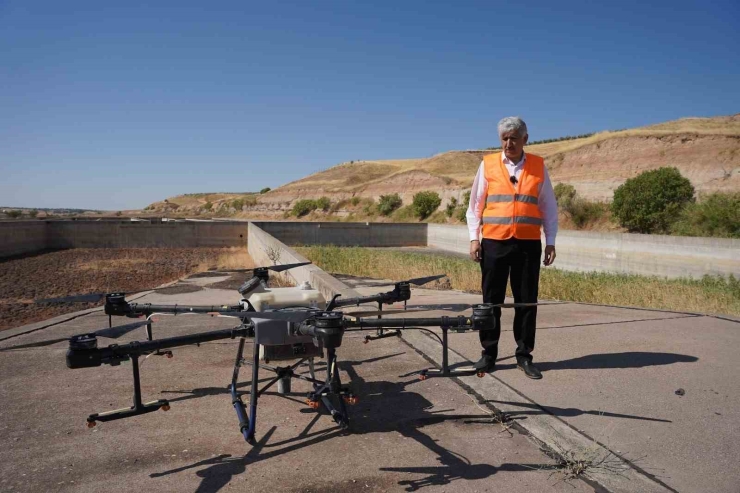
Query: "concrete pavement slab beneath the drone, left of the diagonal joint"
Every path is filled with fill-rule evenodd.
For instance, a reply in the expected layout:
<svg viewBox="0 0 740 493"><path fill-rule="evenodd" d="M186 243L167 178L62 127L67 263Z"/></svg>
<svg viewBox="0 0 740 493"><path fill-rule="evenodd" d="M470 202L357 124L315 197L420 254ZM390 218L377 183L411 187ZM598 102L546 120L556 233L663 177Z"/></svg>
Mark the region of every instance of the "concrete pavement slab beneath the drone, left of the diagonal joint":
<svg viewBox="0 0 740 493"><path fill-rule="evenodd" d="M220 304L238 297L205 289L137 301ZM234 325L225 318L162 316L154 334ZM144 400L167 398L171 410L93 429L85 426L88 414L130 405L129 364L68 370L65 342L4 350L105 326L107 317L95 311L0 341L1 491L594 491L581 480L562 481L537 444L495 422L454 381L420 382L414 372L429 363L396 338L364 345L359 334L345 335L341 375L360 397L350 408L352 433L309 410L307 385L294 382L288 398L270 391L261 398L254 448L238 431L226 389L236 341L143 360ZM100 343L143 336L141 329Z"/></svg>

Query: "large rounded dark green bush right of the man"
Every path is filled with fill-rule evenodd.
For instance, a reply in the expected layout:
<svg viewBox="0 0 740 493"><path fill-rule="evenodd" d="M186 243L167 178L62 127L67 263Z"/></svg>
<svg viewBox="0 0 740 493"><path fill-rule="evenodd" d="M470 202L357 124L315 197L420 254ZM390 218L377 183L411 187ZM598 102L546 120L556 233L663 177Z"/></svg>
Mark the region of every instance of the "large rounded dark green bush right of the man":
<svg viewBox="0 0 740 493"><path fill-rule="evenodd" d="M694 187L676 168L659 168L619 186L614 191L612 212L629 231L666 233L693 197Z"/></svg>

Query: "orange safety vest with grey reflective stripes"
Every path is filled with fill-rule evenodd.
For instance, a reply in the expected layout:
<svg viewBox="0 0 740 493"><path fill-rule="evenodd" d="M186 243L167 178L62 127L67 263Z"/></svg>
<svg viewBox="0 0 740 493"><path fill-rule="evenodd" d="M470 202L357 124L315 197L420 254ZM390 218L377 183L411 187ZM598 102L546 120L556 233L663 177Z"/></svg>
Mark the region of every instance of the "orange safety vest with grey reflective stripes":
<svg viewBox="0 0 740 493"><path fill-rule="evenodd" d="M540 186L545 181L545 160L527 154L517 185L511 183L504 153L483 156L488 196L483 209L483 237L493 240L539 240L542 214Z"/></svg>

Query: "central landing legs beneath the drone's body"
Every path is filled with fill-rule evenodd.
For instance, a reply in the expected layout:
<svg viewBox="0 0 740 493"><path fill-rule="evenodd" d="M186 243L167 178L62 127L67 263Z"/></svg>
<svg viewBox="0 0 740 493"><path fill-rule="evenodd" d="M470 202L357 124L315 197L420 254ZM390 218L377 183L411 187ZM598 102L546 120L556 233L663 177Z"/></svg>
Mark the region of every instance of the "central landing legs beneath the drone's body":
<svg viewBox="0 0 740 493"><path fill-rule="evenodd" d="M339 380L339 369L336 365L337 358L335 349L327 349L327 376L325 381L321 381L316 379L313 358L303 358L297 363L286 367L262 365L259 363L260 345L257 343L255 343L253 347L252 361L247 361L243 358L245 342L245 338L241 338L239 340L239 348L237 349L236 362L234 364L234 374L231 378L229 391L231 392L231 403L234 406L237 418L239 419L239 431L244 435L244 439L247 443L250 445L254 445L256 443L254 435L257 427L257 401L259 397L276 383L278 384L279 395L290 393L290 381L293 378L313 384L314 390L309 392L306 399L306 403L311 409L318 410L323 404L329 414L331 414L332 418L334 418L334 421L341 428L346 429L349 426L346 404L356 404L357 397L350 392L349 387L343 386ZM306 362L308 362L310 377L306 377L305 375L295 372L299 366ZM242 396L237 393L236 390L237 380L239 379L239 368L242 365L252 366L252 385L249 396L248 412L244 401L242 401ZM275 377L267 382L261 389L258 388L260 369L275 373ZM332 402L332 395L336 395L338 397L338 409Z"/></svg>

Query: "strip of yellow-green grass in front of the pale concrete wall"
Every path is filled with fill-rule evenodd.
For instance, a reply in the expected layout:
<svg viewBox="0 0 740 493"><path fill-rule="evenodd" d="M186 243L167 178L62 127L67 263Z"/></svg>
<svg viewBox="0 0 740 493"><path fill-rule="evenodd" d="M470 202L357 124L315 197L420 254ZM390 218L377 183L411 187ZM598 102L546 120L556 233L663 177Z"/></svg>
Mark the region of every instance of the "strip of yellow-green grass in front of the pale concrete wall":
<svg viewBox="0 0 740 493"><path fill-rule="evenodd" d="M296 250L327 272L394 280L446 273L452 289L481 292L480 269L464 258L361 247ZM543 268L540 299L740 316L740 280L666 280Z"/></svg>

